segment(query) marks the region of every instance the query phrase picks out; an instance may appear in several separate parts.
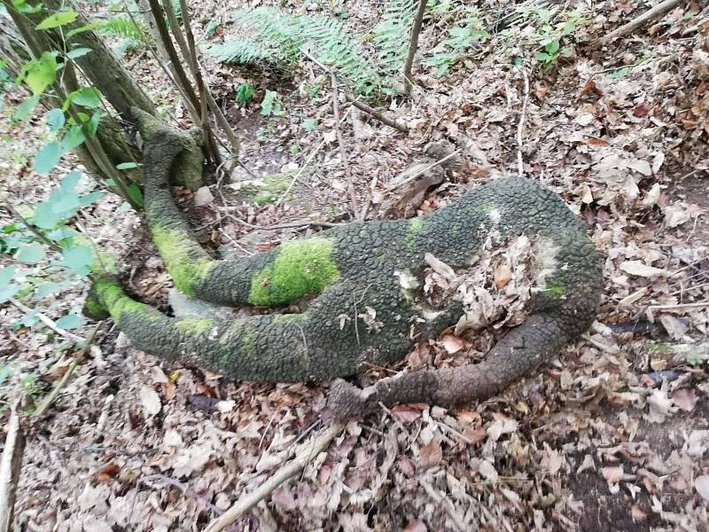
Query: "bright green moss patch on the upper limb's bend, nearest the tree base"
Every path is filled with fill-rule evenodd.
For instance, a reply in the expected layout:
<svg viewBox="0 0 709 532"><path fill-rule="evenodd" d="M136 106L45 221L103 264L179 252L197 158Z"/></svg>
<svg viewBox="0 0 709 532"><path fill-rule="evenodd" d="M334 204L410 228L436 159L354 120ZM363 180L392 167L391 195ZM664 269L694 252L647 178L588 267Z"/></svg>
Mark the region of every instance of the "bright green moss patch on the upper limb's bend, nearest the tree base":
<svg viewBox="0 0 709 532"><path fill-rule="evenodd" d="M175 287L185 295L194 296L195 286L214 268L214 260L208 256L191 256L190 248L185 246L185 242L191 242L191 236L184 231L165 229L157 224L151 231L152 241L158 246Z"/></svg>

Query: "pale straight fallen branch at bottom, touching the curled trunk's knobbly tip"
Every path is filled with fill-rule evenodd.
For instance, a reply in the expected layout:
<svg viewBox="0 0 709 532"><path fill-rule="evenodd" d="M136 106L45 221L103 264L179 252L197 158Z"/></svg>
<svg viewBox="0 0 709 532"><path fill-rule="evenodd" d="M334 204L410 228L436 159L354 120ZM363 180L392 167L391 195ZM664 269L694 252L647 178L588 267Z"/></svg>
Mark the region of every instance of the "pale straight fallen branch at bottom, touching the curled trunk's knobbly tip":
<svg viewBox="0 0 709 532"><path fill-rule="evenodd" d="M268 481L263 482L261 486L254 489L245 497L238 499L229 510L224 512L220 517L213 520L205 528L205 532L220 532L229 527L235 520L238 520L245 512L248 512L253 506L258 505L262 499L269 497L274 489L300 473L308 463L315 459L325 448L330 445L345 428L344 425L335 424L323 429L319 435L316 435L311 442L303 443L300 447L300 453L292 459L291 462L281 467L276 473L273 473Z"/></svg>

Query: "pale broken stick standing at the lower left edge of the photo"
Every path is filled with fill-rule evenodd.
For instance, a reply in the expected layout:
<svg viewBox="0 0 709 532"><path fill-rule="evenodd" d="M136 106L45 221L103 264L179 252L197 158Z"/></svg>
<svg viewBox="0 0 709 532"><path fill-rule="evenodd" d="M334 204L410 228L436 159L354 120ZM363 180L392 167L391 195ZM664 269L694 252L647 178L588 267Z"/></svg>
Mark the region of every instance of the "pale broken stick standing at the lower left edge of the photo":
<svg viewBox="0 0 709 532"><path fill-rule="evenodd" d="M12 532L15 508L15 493L19 481L22 453L25 450L25 434L19 426L19 403L12 407L7 424L3 458L0 459L0 532Z"/></svg>

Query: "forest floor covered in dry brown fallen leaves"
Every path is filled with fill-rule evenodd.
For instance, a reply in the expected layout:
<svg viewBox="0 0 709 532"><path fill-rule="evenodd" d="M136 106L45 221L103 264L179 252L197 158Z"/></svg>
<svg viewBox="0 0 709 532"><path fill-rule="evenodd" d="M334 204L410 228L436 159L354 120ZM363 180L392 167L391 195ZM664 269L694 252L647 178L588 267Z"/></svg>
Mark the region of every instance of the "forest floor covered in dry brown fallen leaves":
<svg viewBox="0 0 709 532"><path fill-rule="evenodd" d="M193 4L205 47L229 35L236 3ZM357 35L377 16L374 2L332 4L348 12ZM514 5L485 4L489 20ZM408 404L351 421L300 476L231 529L709 529L709 12L702 2L681 3L594 50L647 7L593 3L588 23L548 68L531 59L520 36L524 20L510 26L512 38L493 34L475 44L443 76L419 63L413 98L384 109L409 135L350 112L339 127L348 163L334 131L329 76L318 66L303 59L273 72L205 56L207 80L242 138L245 168L288 183L314 161L278 206L245 199L251 177L241 169L211 185L206 203L203 194L178 194L206 245L238 255L269 249L318 230L251 225L347 221L368 202L376 218L401 170L427 143L446 139L463 168L427 192L419 214L495 175L518 174L521 153L523 173L585 220L604 261L596 324L575 346L487 402L455 410ZM217 30L207 36L211 23ZM445 30L440 19L425 24L421 58ZM521 66L518 57L526 58ZM151 56L134 51L125 59L150 96L187 124ZM245 107L235 98L243 82L256 88ZM277 91L282 116L260 113L265 90ZM43 123L11 129L0 121L0 129L5 153L13 153L3 160L4 190L28 205L43 200L47 180L27 165ZM270 192L283 191L281 183ZM79 222L121 254L133 291L167 309L170 279L137 215L106 197ZM74 286L43 308L58 317L80 309L84 294L85 286ZM12 305L0 317L5 364L39 374L37 389L51 387L71 361L58 350L62 339L21 325ZM74 332L86 336L92 327ZM455 364L466 348L446 334L419 345L404 365ZM312 434L326 395L327 386L232 382L168 364L105 332L27 444L18 529L203 529Z"/></svg>

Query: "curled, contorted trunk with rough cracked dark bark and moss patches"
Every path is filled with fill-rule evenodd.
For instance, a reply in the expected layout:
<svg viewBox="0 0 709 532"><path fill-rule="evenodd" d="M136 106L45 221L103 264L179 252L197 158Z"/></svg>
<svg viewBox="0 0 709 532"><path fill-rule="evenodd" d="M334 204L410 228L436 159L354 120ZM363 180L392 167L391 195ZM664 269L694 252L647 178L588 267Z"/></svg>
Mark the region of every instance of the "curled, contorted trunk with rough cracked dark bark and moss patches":
<svg viewBox="0 0 709 532"><path fill-rule="evenodd" d="M153 239L183 293L218 304L276 306L317 295L302 314L225 322L166 317L131 300L110 277L94 286L97 301L137 348L222 372L232 379L332 379L368 364L400 360L418 340L460 316L431 309L401 274L423 285L425 254L454 269L477 261L487 239L501 245L526 234L549 248L553 273L531 301L525 324L500 340L483 364L403 374L364 392L338 381L331 404L339 416L379 401L455 403L492 395L563 348L591 323L602 289L596 251L580 221L534 181L500 179L432 215L406 221L350 223L244 260L213 260L191 237L169 192L182 144L152 129L145 148L146 212ZM541 269L541 264L539 265ZM549 263L544 264L549 268ZM365 311L367 309L368 311Z"/></svg>

